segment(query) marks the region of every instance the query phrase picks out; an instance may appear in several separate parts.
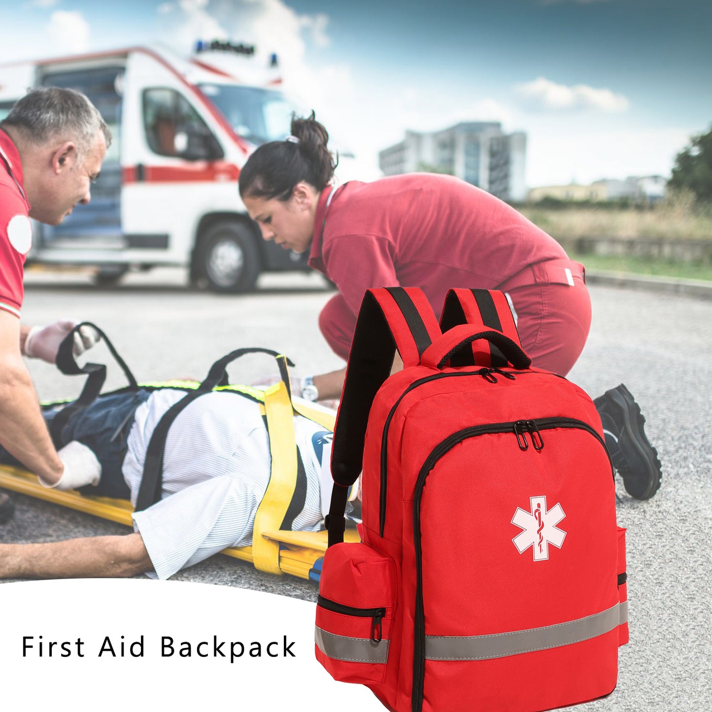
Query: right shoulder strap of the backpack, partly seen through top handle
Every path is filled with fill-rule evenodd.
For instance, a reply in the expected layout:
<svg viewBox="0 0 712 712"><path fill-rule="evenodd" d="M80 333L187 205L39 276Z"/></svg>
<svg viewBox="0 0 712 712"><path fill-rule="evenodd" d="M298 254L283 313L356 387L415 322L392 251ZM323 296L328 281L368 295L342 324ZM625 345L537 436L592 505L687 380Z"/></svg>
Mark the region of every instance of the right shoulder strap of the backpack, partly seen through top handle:
<svg viewBox="0 0 712 712"><path fill-rule="evenodd" d="M506 295L500 290L449 290L440 317L440 328L445 333L461 324L496 329L521 346L512 310ZM480 340L473 342L471 351L454 356L451 365L501 368L507 365L507 360L494 344Z"/></svg>

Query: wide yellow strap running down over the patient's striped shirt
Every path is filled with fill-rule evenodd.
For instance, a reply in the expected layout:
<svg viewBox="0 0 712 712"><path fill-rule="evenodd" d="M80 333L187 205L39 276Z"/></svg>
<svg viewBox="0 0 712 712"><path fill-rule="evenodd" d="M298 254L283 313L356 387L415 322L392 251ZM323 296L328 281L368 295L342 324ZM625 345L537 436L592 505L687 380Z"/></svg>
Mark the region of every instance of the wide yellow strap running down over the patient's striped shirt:
<svg viewBox="0 0 712 712"><path fill-rule="evenodd" d="M280 381L264 392L272 470L267 491L255 514L252 557L255 568L281 574L279 543L263 537L263 532L279 529L297 486L297 441L292 403L286 385Z"/></svg>

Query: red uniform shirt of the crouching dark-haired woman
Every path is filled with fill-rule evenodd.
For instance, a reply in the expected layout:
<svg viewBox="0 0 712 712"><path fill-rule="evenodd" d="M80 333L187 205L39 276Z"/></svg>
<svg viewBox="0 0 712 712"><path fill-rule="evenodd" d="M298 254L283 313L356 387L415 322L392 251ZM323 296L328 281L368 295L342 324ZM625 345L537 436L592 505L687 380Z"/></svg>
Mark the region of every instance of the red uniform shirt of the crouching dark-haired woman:
<svg viewBox="0 0 712 712"><path fill-rule="evenodd" d="M330 192L319 199L309 264L354 314L368 288L419 287L439 313L451 288L495 289L529 265L566 258L518 211L450 176L349 182L327 208Z"/></svg>

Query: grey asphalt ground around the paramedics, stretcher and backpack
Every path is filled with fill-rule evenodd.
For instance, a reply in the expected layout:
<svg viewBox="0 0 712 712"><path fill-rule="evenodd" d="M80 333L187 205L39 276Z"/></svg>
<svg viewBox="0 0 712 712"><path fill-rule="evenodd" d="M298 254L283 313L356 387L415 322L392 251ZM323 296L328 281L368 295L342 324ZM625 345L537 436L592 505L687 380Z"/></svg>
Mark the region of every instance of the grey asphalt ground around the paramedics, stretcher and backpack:
<svg viewBox="0 0 712 712"><path fill-rule="evenodd" d="M317 314L330 297L318 276L270 276L246 297L184 290L182 274L130 276L115 290L87 278L28 276L23 318L91 320L112 338L140 380L201 378L211 362L243 346L283 350L295 373L340 367L320 337ZM627 527L631 642L621 650L614 695L591 710L712 709L712 303L678 295L592 286L594 320L570 379L592 397L627 384L646 415L664 468L659 493L634 501L618 486L619 525ZM103 347L101 347L103 348ZM268 377L269 362L248 357L233 380ZM93 360L100 360L95 352ZM33 362L41 399L77 394L76 379ZM112 375L110 385L121 378ZM16 497L4 541L58 540L123 533L120 525ZM315 587L262 575L216 556L179 580L250 587L315 600Z"/></svg>

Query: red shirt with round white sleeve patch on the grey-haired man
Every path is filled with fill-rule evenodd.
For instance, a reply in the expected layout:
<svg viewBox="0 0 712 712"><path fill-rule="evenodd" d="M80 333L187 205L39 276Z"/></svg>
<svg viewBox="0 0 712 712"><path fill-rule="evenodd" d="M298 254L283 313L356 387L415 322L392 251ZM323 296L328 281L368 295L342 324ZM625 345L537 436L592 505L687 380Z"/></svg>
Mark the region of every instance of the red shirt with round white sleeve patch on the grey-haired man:
<svg viewBox="0 0 712 712"><path fill-rule="evenodd" d="M0 129L0 309L19 317L25 255L32 245L20 155Z"/></svg>

